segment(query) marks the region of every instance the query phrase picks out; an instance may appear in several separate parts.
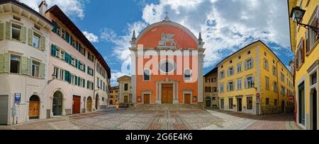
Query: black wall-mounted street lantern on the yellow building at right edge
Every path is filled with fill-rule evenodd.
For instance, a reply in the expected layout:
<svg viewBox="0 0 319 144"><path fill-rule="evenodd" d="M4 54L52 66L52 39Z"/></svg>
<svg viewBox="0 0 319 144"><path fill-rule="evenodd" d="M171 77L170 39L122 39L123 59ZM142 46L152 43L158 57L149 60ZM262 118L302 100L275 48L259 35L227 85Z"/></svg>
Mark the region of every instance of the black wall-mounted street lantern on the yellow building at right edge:
<svg viewBox="0 0 319 144"><path fill-rule="evenodd" d="M309 29L311 28L317 35L319 33L319 29L315 28L312 25L306 25L301 23L301 20L303 19L303 16L305 15L306 11L301 9L299 6L296 6L292 9L291 14L290 14L290 18L293 19L294 23L297 23L297 25L301 25L303 26L303 28Z"/></svg>

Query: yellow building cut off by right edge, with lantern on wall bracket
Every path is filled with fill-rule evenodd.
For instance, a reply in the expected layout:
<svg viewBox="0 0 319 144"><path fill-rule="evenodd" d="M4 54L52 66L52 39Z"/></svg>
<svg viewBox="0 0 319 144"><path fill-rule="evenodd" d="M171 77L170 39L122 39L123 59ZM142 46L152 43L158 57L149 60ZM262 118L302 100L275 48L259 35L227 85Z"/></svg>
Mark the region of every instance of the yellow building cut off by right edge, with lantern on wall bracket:
<svg viewBox="0 0 319 144"><path fill-rule="evenodd" d="M318 56L319 0L289 0L289 15L293 8L306 11L300 23L290 18L291 50L296 54L296 122L305 129L318 129ZM299 21L299 20L298 20Z"/></svg>

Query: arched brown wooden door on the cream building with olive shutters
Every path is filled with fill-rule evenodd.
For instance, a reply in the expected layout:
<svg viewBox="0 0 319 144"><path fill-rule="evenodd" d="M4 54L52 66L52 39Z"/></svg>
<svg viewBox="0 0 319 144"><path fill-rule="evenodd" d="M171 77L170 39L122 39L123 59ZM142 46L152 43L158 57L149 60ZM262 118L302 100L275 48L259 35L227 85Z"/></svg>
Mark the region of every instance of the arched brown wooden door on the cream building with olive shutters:
<svg viewBox="0 0 319 144"><path fill-rule="evenodd" d="M29 119L39 119L40 117L40 98L32 95L29 99Z"/></svg>

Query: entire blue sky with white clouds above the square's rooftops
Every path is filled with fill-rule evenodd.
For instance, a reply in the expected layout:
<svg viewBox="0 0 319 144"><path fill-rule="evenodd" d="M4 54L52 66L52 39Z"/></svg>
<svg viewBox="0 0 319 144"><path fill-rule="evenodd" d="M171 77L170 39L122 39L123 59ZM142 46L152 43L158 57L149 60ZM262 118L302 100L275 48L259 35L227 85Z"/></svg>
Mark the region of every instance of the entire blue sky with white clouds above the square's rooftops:
<svg viewBox="0 0 319 144"><path fill-rule="evenodd" d="M20 0L38 10L42 0ZM94 44L111 67L111 85L130 64L133 30L169 19L199 32L206 42L203 73L208 73L226 56L262 40L288 67L293 59L286 0L47 0L59 6Z"/></svg>

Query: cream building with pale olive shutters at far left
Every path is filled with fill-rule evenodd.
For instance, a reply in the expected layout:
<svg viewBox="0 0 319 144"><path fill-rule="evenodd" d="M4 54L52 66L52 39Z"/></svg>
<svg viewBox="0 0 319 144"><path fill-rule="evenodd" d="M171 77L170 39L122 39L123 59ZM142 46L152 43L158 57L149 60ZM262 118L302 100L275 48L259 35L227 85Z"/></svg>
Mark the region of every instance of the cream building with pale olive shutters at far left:
<svg viewBox="0 0 319 144"><path fill-rule="evenodd" d="M0 124L45 119L52 24L18 1L0 7Z"/></svg>

